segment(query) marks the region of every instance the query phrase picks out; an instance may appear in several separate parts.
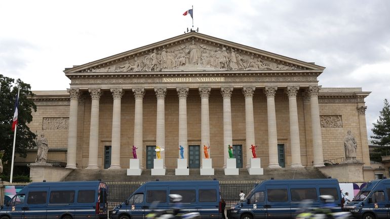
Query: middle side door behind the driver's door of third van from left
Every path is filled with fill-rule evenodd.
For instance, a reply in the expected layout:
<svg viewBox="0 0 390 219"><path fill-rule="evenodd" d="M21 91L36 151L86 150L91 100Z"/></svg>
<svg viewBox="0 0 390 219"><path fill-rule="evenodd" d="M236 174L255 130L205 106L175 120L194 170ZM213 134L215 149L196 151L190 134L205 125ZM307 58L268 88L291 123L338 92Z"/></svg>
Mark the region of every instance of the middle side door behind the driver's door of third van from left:
<svg viewBox="0 0 390 219"><path fill-rule="evenodd" d="M266 185L267 218L291 218L287 185Z"/></svg>

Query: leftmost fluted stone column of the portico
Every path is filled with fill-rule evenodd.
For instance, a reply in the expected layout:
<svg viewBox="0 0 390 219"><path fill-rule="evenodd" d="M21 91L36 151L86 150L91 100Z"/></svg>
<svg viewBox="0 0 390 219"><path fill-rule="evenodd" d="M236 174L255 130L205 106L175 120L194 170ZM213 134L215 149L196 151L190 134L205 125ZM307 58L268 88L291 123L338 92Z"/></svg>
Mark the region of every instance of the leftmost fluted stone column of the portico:
<svg viewBox="0 0 390 219"><path fill-rule="evenodd" d="M68 152L66 157L66 168L75 169L76 166L76 145L77 145L77 107L79 106L79 89L67 89L70 96L69 106L69 129L68 129Z"/></svg>

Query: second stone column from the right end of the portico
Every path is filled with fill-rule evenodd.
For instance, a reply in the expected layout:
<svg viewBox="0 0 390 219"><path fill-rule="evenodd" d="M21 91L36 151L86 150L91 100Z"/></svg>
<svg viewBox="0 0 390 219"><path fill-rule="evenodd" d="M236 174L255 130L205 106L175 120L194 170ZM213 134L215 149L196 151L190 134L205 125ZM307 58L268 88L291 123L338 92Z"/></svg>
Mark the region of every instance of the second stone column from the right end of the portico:
<svg viewBox="0 0 390 219"><path fill-rule="evenodd" d="M291 144L291 167L303 167L301 163L301 149L299 143L297 93L299 86L287 86L286 93L289 102L290 116L290 144Z"/></svg>

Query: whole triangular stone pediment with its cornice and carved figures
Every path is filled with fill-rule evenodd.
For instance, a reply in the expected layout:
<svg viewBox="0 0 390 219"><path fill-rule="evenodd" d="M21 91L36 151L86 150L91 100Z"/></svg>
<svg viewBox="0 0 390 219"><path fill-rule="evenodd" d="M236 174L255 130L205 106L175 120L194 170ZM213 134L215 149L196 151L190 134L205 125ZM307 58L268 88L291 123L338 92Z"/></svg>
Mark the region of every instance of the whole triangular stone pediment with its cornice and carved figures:
<svg viewBox="0 0 390 219"><path fill-rule="evenodd" d="M324 70L307 63L239 43L189 32L84 65L65 69L76 72L160 71L286 71Z"/></svg>

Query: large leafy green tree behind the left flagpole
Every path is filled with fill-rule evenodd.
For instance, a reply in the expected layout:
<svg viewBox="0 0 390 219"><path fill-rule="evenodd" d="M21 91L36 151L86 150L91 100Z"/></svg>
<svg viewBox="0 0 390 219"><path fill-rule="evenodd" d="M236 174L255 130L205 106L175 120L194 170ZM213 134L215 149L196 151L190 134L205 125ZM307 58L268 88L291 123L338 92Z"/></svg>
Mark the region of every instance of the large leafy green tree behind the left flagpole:
<svg viewBox="0 0 390 219"><path fill-rule="evenodd" d="M17 79L6 77L0 74L0 150L4 150L3 155L3 174L9 174L11 169L11 157L14 141L14 132L12 132L12 118L14 117L14 107L18 87L20 87L19 107L18 107L18 125L16 130L15 156L19 154L26 157L27 149L35 147L35 134L27 126L32 121L32 110L36 112L36 106L29 98L33 94L30 91L30 84ZM7 164L5 164L7 163Z"/></svg>

